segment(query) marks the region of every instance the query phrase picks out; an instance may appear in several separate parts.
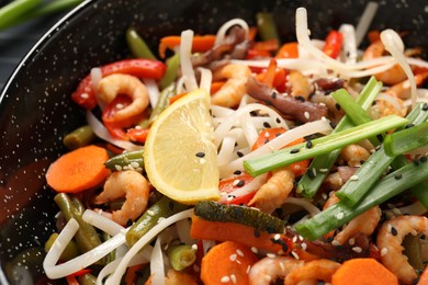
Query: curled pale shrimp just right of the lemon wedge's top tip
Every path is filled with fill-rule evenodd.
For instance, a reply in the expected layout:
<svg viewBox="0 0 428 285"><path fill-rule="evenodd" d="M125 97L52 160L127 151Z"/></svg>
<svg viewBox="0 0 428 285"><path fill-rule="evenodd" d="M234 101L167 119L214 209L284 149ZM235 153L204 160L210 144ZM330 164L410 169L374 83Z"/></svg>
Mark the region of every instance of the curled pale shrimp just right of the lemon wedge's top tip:
<svg viewBox="0 0 428 285"><path fill-rule="evenodd" d="M216 70L214 78L227 79L227 81L212 95L211 102L214 105L226 107L238 105L244 94L247 93L245 84L250 75L251 70L244 65L230 64Z"/></svg>

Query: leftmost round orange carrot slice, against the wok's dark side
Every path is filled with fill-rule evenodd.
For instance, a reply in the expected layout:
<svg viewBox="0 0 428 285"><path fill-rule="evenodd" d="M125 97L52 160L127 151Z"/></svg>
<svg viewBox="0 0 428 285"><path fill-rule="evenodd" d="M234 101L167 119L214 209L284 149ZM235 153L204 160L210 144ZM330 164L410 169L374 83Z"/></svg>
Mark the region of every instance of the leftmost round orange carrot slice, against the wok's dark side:
<svg viewBox="0 0 428 285"><path fill-rule="evenodd" d="M109 175L110 171L104 167L108 159L108 151L93 145L65 153L47 170L47 184L65 193L92 189Z"/></svg>

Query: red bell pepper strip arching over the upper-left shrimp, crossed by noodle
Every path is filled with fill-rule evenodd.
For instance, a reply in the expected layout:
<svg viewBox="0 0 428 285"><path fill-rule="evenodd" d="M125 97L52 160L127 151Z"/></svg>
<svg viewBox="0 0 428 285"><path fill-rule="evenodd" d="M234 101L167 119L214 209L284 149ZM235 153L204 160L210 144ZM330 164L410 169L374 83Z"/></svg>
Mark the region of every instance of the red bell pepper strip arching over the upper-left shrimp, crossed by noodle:
<svg viewBox="0 0 428 285"><path fill-rule="evenodd" d="M138 78L150 78L160 80L167 67L164 62L151 59L123 59L101 67L103 77L113 73L126 73ZM86 110L92 110L97 106L95 92L92 87L91 76L85 77L77 90L71 94L72 101Z"/></svg>

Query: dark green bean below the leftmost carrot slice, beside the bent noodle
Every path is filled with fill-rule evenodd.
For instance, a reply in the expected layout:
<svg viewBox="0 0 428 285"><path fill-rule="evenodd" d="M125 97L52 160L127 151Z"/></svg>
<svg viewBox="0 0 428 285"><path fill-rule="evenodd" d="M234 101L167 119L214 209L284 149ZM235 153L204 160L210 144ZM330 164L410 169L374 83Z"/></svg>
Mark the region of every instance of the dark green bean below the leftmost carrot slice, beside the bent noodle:
<svg viewBox="0 0 428 285"><path fill-rule="evenodd" d="M83 221L80 210L76 208L72 201L66 193L59 193L54 197L55 203L63 212L67 220L75 218L79 223L79 229L76 232L76 241L81 252L90 251L91 249L101 244L100 237L95 229Z"/></svg>

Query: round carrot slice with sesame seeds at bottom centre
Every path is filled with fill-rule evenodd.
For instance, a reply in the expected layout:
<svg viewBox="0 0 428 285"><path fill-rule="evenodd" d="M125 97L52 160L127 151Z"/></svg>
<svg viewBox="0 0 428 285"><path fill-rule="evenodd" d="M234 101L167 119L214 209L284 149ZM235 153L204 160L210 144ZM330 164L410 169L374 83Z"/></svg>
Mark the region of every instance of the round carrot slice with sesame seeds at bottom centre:
<svg viewBox="0 0 428 285"><path fill-rule="evenodd" d="M228 283L230 280L233 284L245 285L249 283L247 269L257 261L256 254L247 247L225 241L211 248L202 259L201 280L206 285Z"/></svg>

